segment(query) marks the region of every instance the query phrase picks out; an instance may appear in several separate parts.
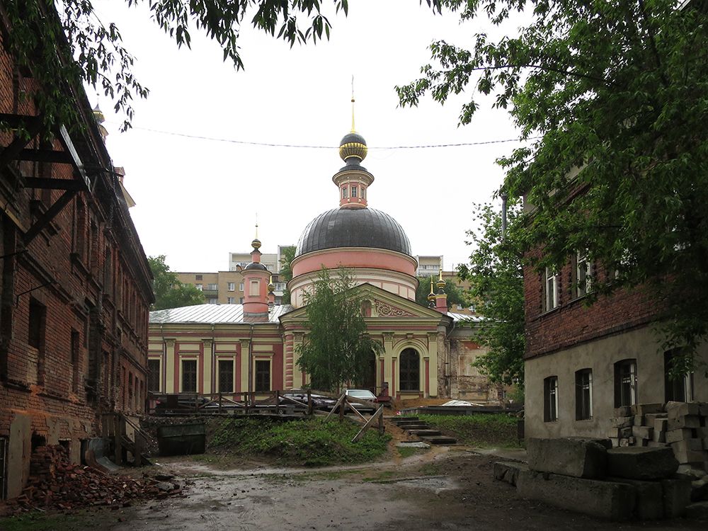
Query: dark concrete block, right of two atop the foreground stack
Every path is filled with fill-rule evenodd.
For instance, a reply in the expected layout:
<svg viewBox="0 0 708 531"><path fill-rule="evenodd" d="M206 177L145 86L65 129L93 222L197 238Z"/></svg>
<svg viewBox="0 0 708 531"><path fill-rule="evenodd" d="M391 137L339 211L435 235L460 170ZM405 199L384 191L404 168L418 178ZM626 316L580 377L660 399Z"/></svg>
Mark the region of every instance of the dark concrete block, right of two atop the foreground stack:
<svg viewBox="0 0 708 531"><path fill-rule="evenodd" d="M669 447L627 447L607 450L607 473L627 479L662 479L672 476L678 461Z"/></svg>

